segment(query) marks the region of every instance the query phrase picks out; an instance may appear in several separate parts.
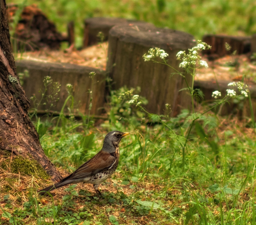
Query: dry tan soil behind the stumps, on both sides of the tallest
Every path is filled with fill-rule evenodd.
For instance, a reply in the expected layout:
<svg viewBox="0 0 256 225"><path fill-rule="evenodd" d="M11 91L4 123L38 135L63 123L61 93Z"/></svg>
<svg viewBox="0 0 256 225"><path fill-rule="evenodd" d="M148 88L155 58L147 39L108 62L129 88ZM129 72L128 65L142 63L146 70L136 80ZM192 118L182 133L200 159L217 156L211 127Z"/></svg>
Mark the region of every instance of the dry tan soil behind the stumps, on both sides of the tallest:
<svg viewBox="0 0 256 225"><path fill-rule="evenodd" d="M33 52L17 54L17 59L30 59L45 62L72 63L81 66L94 67L105 70L107 61L108 43L87 47L83 50L72 48L62 51L43 49ZM227 55L214 61L203 56L202 60L208 63L209 68L197 71L196 80L228 80L241 81L246 75L247 82L256 82L256 63L251 61L248 55Z"/></svg>

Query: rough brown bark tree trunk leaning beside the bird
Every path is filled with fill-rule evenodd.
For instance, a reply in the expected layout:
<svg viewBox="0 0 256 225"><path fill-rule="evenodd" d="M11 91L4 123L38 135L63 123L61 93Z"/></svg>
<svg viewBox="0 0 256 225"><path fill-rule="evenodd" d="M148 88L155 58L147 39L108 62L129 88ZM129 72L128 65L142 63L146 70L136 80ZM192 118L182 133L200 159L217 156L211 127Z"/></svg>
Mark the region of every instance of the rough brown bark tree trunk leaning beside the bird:
<svg viewBox="0 0 256 225"><path fill-rule="evenodd" d="M20 85L11 53L5 0L0 0L0 8L0 154L11 152L10 162L15 156L34 159L57 181L61 178L59 172L45 156L27 114L29 99Z"/></svg>

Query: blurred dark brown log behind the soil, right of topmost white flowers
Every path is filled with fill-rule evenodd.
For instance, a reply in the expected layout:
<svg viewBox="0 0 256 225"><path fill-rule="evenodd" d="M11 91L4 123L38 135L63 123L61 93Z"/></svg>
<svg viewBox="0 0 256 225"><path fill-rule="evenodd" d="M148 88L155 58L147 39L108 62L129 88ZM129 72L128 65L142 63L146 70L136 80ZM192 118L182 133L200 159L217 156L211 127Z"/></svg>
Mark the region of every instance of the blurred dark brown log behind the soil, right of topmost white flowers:
<svg viewBox="0 0 256 225"><path fill-rule="evenodd" d="M207 34L203 37L203 41L212 46L211 49L204 50L204 53L215 58L232 54L234 51L240 55L251 50L251 37ZM231 46L230 50L226 50L225 43Z"/></svg>

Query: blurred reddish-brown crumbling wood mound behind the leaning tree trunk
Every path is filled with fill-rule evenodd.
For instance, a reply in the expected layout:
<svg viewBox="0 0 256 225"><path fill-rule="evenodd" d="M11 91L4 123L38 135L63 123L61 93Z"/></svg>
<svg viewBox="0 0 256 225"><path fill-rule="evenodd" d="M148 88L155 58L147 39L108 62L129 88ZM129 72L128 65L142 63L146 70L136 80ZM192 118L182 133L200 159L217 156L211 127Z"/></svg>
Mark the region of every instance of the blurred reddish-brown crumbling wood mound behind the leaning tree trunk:
<svg viewBox="0 0 256 225"><path fill-rule="evenodd" d="M9 22L12 22L17 9L18 6L9 5ZM65 40L35 4L24 7L15 27L14 39L14 48L27 51L45 47L59 49L60 42Z"/></svg>

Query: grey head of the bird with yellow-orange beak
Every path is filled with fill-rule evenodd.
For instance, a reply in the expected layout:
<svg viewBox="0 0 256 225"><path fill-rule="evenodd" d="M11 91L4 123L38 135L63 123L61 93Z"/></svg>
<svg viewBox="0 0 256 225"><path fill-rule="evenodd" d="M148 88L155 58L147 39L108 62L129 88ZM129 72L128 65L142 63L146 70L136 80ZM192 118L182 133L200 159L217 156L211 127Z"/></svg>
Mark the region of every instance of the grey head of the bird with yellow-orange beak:
<svg viewBox="0 0 256 225"><path fill-rule="evenodd" d="M124 133L121 131L109 132L104 139L102 150L109 153L115 152L120 140L128 134L129 134L128 132Z"/></svg>

